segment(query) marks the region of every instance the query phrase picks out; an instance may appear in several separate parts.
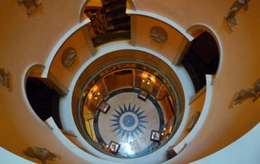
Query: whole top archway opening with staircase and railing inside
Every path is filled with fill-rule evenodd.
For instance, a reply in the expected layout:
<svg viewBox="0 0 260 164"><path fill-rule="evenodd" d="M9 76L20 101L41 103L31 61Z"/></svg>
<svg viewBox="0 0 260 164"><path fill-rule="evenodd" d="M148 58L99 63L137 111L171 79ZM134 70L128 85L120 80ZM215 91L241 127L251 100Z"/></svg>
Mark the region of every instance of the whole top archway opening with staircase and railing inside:
<svg viewBox="0 0 260 164"><path fill-rule="evenodd" d="M130 40L130 16L126 0L91 0L83 7L84 18L91 23L86 29L94 47L116 40Z"/></svg>

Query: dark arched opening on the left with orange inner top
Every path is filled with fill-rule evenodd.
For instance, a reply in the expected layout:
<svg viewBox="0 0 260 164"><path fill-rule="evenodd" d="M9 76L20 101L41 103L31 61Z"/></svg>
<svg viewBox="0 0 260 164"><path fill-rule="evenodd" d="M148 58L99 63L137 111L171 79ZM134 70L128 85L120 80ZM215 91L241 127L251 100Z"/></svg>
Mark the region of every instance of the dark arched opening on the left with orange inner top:
<svg viewBox="0 0 260 164"><path fill-rule="evenodd" d="M54 118L57 126L62 128L59 114L60 94L64 94L50 78L41 77L44 66L36 64L30 67L25 74L25 96L29 109L33 110L37 120L44 122ZM43 123L44 124L44 123Z"/></svg>

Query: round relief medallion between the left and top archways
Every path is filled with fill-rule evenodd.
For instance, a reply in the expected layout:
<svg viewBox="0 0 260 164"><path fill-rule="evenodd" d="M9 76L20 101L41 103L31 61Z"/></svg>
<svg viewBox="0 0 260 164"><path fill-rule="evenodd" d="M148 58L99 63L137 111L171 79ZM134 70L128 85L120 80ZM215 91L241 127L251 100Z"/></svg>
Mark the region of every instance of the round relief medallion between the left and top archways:
<svg viewBox="0 0 260 164"><path fill-rule="evenodd" d="M62 64L64 67L68 68L70 67L73 62L75 61L77 57L77 53L75 51L75 49L73 49L72 47L69 47L68 49L66 49L64 51L64 53L62 54Z"/></svg>

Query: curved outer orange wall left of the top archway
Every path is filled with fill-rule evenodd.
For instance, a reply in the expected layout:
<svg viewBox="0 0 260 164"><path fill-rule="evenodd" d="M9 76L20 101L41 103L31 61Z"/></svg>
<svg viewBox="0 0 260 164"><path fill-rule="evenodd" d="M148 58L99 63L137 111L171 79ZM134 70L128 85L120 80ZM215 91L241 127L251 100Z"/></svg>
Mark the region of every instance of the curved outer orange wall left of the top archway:
<svg viewBox="0 0 260 164"><path fill-rule="evenodd" d="M10 71L10 87L0 86L0 146L29 161L23 150L27 147L45 147L61 157L56 163L86 163L71 154L52 133L40 124L23 98L23 74L32 64L43 64L58 40L78 24L82 1L42 1L27 17L25 7L17 1L0 3L1 68Z"/></svg>

